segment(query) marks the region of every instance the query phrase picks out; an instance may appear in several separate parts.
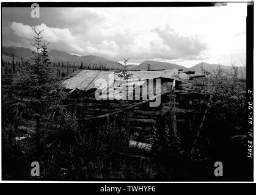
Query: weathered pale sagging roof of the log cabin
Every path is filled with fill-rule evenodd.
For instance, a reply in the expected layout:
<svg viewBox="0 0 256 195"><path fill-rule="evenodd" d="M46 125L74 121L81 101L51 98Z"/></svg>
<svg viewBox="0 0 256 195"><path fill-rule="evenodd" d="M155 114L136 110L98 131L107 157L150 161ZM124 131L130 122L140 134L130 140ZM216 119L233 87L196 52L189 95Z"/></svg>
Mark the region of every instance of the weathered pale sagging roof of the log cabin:
<svg viewBox="0 0 256 195"><path fill-rule="evenodd" d="M189 76L185 73L181 73L178 69L166 69L159 71L128 71L131 73L130 79L134 82L144 82L147 79L156 79L156 78L166 78L172 80L178 80L180 82L188 82ZM62 85L66 89L73 90L90 90L91 88L98 88L95 86L95 80L105 79L109 80L109 74L114 76L115 80L122 80L118 75L120 71L104 71L104 70L92 70L92 69L82 69L74 76L71 76L69 79L66 79L62 82ZM112 84L112 83L109 83Z"/></svg>

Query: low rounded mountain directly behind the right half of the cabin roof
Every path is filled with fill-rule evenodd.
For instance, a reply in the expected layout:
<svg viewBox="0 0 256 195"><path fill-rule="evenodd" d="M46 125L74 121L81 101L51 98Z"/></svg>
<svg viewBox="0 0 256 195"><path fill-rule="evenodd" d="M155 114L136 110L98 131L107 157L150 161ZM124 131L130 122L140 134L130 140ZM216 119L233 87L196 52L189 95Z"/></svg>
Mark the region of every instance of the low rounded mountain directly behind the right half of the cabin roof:
<svg viewBox="0 0 256 195"><path fill-rule="evenodd" d="M183 69L183 71L186 71L187 68L185 66L176 65L175 63L167 63L167 62L157 62L153 60L145 60L138 66L132 66L130 69L134 70L147 70L148 64L150 64L150 69Z"/></svg>

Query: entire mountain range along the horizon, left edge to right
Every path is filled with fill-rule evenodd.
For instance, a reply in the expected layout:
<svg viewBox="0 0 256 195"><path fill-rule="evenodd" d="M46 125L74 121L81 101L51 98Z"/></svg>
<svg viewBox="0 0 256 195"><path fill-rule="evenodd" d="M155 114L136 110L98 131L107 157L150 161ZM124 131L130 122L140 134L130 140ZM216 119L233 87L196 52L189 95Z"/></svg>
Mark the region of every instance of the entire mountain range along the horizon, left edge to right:
<svg viewBox="0 0 256 195"><path fill-rule="evenodd" d="M28 48L15 48L15 47L2 47L2 59L4 61L12 62L12 54L14 54L15 62L16 60L19 60L21 57L23 59L29 59L32 56L32 50ZM84 65L106 65L110 69L120 69L120 66L117 65L117 63L104 59L103 57L98 57L96 55L84 55L84 56L78 56L78 55L71 55L66 52L61 51L49 51L48 52L49 59L51 62L69 62L70 64L80 66L81 62ZM183 71L195 71L194 75L201 75L201 67L203 66L203 69L206 69L210 73L213 72L214 69L218 68L218 65L216 64L209 64L209 63L199 63L197 65L192 66L191 68L186 68L185 66L177 65L174 63L167 63L167 62L158 62L153 60L145 60L140 65L131 65L128 66L128 69L130 70L147 70L148 64L150 64L151 69L183 69ZM231 71L232 66L221 66L221 68ZM246 79L246 67L238 67L238 77Z"/></svg>

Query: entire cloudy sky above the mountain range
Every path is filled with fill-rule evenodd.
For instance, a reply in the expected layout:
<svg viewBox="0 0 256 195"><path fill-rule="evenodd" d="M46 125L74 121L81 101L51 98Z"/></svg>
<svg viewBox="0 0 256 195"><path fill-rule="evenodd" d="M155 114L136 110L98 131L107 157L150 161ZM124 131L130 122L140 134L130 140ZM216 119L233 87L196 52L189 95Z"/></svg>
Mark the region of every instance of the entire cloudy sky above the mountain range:
<svg viewBox="0 0 256 195"><path fill-rule="evenodd" d="M31 48L31 27L48 49L109 60L246 63L246 2L221 7L2 8L2 46Z"/></svg>

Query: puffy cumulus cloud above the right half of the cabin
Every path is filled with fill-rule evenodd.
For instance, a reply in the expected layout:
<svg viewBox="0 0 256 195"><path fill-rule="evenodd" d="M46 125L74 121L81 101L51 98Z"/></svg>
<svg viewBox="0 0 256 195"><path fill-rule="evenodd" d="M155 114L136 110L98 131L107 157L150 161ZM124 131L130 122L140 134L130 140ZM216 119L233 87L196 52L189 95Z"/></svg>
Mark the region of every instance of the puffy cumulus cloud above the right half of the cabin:
<svg viewBox="0 0 256 195"><path fill-rule="evenodd" d="M135 34L132 44L120 44L117 55L133 60L142 59L189 59L203 60L208 58L207 44L197 35L184 35L170 28L156 27L149 32Z"/></svg>

